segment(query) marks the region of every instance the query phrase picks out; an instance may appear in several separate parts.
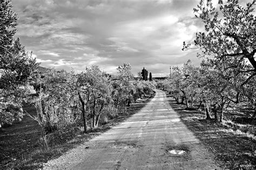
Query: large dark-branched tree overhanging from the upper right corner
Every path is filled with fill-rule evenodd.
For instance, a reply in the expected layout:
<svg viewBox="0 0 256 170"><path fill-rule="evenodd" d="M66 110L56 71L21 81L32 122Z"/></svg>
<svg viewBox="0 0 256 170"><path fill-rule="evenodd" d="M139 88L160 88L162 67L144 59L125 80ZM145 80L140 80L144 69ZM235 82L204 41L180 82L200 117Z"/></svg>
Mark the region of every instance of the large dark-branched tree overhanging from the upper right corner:
<svg viewBox="0 0 256 170"><path fill-rule="evenodd" d="M196 17L205 24L205 31L197 32L194 40L194 45L201 49L198 57L206 58L210 69L239 84L234 87L236 96L230 98L234 103L239 102L242 93L251 95L248 90L256 77L254 5L255 1L244 7L238 0L221 0L217 10L211 0L201 0L194 9ZM193 48L185 42L183 45L183 50Z"/></svg>

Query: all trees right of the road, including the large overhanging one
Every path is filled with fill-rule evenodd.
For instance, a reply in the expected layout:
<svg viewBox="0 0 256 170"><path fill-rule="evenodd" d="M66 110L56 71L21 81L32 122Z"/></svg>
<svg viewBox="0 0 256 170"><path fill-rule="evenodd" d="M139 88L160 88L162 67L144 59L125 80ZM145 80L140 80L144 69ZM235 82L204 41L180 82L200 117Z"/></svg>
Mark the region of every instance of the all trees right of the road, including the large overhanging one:
<svg viewBox="0 0 256 170"><path fill-rule="evenodd" d="M173 68L172 79L164 88L177 102L185 102L187 107L193 107L194 101L203 103L206 118L210 118L208 107L214 105L215 120L219 106L220 121L224 105L230 102L247 101L255 110L254 5L255 1L241 6L231 0L219 1L216 8L211 0L199 2L194 12L205 24L205 31L196 33L194 46L184 42L183 50L200 49L198 57L204 60L200 67L187 62L182 68Z"/></svg>

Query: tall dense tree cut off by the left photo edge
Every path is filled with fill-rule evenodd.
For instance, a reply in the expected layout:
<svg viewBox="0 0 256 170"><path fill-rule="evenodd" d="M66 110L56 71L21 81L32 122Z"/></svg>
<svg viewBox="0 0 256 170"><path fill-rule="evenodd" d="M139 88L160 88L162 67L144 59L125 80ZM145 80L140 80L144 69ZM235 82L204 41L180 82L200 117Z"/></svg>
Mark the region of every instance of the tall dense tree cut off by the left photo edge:
<svg viewBox="0 0 256 170"><path fill-rule="evenodd" d="M36 59L15 39L17 15L11 1L0 0L0 127L23 116L22 99L24 86L37 67ZM24 89L24 88L23 88Z"/></svg>

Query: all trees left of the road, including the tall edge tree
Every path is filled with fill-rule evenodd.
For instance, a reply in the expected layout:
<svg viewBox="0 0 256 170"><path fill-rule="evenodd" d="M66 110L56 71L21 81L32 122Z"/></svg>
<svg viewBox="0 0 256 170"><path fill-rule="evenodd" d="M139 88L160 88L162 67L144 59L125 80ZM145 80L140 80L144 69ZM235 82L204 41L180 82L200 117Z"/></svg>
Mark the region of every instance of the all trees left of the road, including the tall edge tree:
<svg viewBox="0 0 256 170"><path fill-rule="evenodd" d="M33 118L46 131L81 118L87 131L88 122L98 126L106 106L113 112L126 110L132 101L152 91L149 83L133 80L129 64L118 67L116 78L92 66L80 74L48 69L44 78L36 79L36 59L14 38L18 17L10 0L0 1L0 15L0 128L23 118L23 103L33 91L30 84L39 87L38 97L32 100L37 108Z"/></svg>

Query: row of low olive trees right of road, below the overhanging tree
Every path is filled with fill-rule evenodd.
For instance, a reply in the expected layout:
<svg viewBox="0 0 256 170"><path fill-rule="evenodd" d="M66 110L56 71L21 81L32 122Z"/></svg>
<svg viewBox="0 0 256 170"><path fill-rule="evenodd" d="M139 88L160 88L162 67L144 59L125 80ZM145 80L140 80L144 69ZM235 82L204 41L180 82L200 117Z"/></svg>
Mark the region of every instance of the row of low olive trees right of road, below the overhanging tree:
<svg viewBox="0 0 256 170"><path fill-rule="evenodd" d="M195 103L198 108L203 104L206 119L211 118L211 106L215 121L218 120L217 111L220 112L219 120L223 120L224 106L230 102L245 102L255 107L255 78L241 86L248 78L246 74L234 76L234 72L212 69L206 61L196 67L188 60L182 67L172 69L171 79L160 81L158 86L169 91L177 103L185 104L187 108L194 108Z"/></svg>

